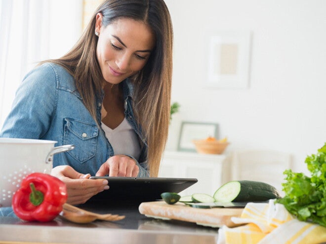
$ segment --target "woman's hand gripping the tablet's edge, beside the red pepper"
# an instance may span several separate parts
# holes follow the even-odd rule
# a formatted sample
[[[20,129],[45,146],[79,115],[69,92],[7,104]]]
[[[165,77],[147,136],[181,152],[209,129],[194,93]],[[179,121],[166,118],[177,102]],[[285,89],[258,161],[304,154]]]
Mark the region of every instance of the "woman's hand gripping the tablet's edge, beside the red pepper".
[[[90,174],[78,173],[67,165],[54,167],[51,175],[66,183],[69,204],[83,204],[97,193],[109,189],[106,179],[88,179]]]

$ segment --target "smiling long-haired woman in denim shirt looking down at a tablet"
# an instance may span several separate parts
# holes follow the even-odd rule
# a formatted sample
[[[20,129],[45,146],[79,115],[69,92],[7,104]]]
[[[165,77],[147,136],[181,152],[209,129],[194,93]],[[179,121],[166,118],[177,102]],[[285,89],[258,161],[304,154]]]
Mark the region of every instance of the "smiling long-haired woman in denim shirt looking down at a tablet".
[[[68,203],[108,189],[90,175],[157,176],[167,139],[172,25],[163,0],[106,0],[76,45],[28,73],[0,137],[49,139]]]

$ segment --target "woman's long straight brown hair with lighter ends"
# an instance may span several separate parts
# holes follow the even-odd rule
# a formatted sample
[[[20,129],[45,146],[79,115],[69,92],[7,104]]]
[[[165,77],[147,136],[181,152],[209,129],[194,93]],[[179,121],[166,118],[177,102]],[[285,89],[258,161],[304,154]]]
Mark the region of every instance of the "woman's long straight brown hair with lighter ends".
[[[82,101],[95,121],[95,99],[103,85],[96,58],[98,37],[94,31],[97,13],[103,15],[103,27],[118,18],[131,18],[147,23],[155,34],[154,51],[144,68],[130,79],[134,84],[135,118],[148,142],[150,175],[157,176],[170,116],[173,31],[169,11],[163,0],[106,0],[97,8],[75,46],[63,57],[51,60],[74,76]]]

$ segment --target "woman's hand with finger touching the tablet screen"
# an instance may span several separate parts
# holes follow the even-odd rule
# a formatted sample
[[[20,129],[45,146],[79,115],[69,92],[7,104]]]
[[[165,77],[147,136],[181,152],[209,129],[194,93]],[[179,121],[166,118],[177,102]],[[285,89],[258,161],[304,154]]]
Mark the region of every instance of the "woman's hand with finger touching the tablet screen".
[[[110,157],[96,173],[96,176],[126,176],[136,177],[138,175],[139,168],[132,158],[126,155],[115,155]]]

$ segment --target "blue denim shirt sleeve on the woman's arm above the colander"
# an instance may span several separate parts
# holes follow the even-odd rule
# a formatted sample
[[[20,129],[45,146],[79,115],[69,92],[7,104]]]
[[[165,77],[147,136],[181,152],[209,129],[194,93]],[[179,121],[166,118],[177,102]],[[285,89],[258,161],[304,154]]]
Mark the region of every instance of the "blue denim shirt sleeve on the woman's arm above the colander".
[[[0,137],[42,139],[56,107],[56,74],[50,65],[42,65],[23,79]]]

